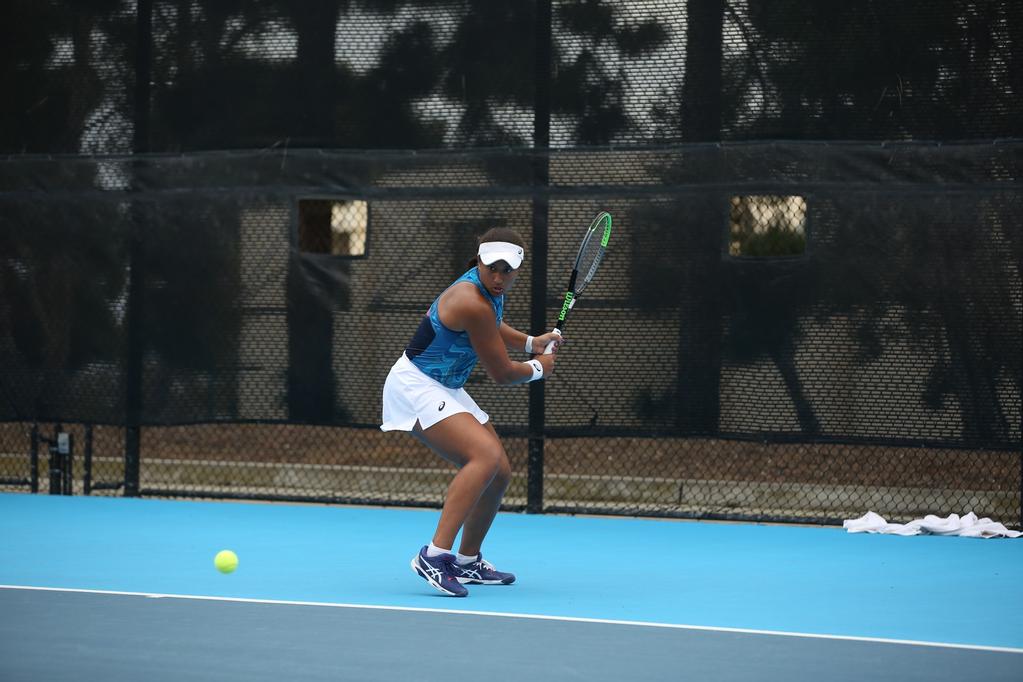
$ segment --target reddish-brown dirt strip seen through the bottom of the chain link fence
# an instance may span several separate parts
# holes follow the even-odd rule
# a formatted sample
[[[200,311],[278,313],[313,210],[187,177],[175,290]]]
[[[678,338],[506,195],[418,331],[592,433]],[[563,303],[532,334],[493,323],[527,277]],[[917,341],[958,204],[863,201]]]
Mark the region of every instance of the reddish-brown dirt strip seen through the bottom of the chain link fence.
[[[81,458],[82,425],[65,427]],[[51,436],[52,424],[40,433]],[[31,424],[0,424],[0,452],[30,449]],[[504,439],[517,471],[526,439]],[[45,456],[46,445],[41,446]],[[124,429],[96,426],[95,456],[124,453]],[[436,468],[439,458],[404,434],[294,424],[203,424],[142,429],[141,457],[218,462]],[[763,444],[716,439],[571,438],[544,444],[544,471],[565,475],[712,479],[733,482],[902,486],[1019,491],[1020,453],[880,445]]]

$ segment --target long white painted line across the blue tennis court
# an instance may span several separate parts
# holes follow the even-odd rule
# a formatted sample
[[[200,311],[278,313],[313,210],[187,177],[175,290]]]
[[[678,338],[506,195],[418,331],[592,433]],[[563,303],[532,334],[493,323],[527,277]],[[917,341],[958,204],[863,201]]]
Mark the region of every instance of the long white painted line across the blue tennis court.
[[[323,606],[330,608],[366,608],[389,611],[414,611],[420,613],[457,613],[460,616],[488,616],[491,618],[516,618],[533,621],[565,621],[569,623],[594,623],[599,625],[631,625],[643,628],[669,628],[674,630],[698,630],[704,632],[728,632],[744,635],[771,635],[775,637],[803,637],[806,639],[835,639],[850,642],[871,642],[875,644],[904,644],[909,646],[933,646],[949,649],[971,649],[977,651],[997,651],[1000,653],[1023,653],[1023,648],[1009,646],[984,646],[982,644],[955,644],[949,642],[928,642],[916,639],[886,639],[884,637],[855,637],[852,635],[822,635],[807,632],[785,632],[781,630],[752,630],[748,628],[721,628],[708,625],[681,625],[675,623],[648,623],[644,621],[615,621],[597,618],[576,618],[572,616],[540,616],[536,613],[504,613],[501,611],[474,611],[461,608],[426,608],[421,606],[384,606],[377,604],[345,604],[331,601],[293,601],[288,599],[251,599],[247,597],[215,597],[197,594],[159,594],[152,592],[121,592],[117,590],[84,590],[71,587],[36,587],[32,585],[0,585],[0,590],[32,590],[38,592],[76,592],[82,594],[108,594],[126,597],[146,597],[149,599],[191,599],[196,601],[233,601],[247,604],[274,604],[282,606]]]

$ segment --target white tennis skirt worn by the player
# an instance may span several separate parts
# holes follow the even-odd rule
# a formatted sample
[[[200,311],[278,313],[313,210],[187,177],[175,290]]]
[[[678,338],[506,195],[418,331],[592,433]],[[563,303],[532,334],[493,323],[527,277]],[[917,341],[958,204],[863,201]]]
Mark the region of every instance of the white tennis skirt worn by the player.
[[[472,414],[481,424],[490,420],[464,389],[449,389],[427,376],[402,353],[384,382],[381,430],[410,431],[416,421],[426,429],[459,412]]]

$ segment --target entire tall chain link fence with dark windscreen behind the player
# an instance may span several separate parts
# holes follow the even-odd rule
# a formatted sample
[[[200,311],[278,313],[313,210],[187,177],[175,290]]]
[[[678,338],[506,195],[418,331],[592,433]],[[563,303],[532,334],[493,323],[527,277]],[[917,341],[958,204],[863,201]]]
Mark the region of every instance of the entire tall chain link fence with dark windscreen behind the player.
[[[508,509],[1021,522],[1018,3],[0,27],[3,490],[438,505],[451,471],[376,430],[388,368],[496,225],[509,322],[549,324],[608,210],[544,409],[469,387]]]

